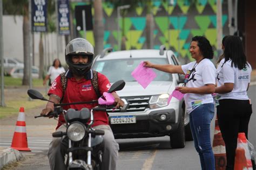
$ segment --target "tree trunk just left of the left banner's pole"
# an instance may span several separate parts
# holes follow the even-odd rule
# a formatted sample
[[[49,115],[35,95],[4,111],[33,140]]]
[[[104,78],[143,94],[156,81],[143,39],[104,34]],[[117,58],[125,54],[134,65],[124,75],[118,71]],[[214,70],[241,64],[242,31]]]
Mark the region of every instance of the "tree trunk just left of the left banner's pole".
[[[22,85],[29,85],[29,57],[30,57],[30,51],[29,51],[29,13],[28,13],[28,7],[24,8],[27,12],[26,15],[23,16],[23,56],[24,56],[24,74],[22,79]]]

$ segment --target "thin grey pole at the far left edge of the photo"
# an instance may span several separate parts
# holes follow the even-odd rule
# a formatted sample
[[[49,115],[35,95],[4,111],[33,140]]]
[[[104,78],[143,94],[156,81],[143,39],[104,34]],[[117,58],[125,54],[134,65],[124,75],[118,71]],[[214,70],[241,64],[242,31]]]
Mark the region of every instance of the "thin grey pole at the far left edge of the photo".
[[[1,106],[4,103],[4,56],[3,56],[3,1],[0,0],[0,55],[1,55]]]

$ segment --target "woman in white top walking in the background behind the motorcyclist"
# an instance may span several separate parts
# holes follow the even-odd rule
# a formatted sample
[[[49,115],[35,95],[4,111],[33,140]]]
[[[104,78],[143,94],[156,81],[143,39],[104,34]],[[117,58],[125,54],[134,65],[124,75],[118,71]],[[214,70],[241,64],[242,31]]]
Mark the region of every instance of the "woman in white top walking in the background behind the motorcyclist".
[[[53,83],[56,77],[59,76],[60,73],[65,72],[65,69],[62,67],[59,59],[55,59],[52,63],[52,66],[49,67],[48,73],[44,78],[43,85],[45,86],[46,81],[49,79],[49,86]]]

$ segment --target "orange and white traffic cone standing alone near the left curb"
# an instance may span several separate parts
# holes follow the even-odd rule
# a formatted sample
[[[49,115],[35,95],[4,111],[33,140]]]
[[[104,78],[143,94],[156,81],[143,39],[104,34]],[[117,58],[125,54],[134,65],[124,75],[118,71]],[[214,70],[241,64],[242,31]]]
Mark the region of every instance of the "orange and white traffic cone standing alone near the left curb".
[[[11,148],[18,151],[31,151],[30,148],[28,148],[28,139],[26,138],[24,107],[19,108],[19,115],[15,127],[14,138],[12,138]]]

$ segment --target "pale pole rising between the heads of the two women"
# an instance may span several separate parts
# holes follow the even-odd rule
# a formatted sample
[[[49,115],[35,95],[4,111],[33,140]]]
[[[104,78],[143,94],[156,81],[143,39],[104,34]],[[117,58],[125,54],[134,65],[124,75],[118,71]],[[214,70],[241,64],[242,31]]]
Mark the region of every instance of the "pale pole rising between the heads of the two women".
[[[222,42],[222,35],[223,35],[223,28],[222,28],[222,3],[221,0],[217,0],[217,52],[218,57],[221,53],[221,42]]]

